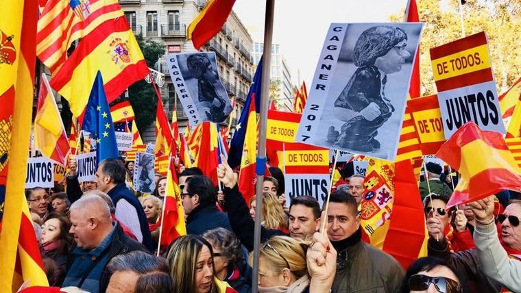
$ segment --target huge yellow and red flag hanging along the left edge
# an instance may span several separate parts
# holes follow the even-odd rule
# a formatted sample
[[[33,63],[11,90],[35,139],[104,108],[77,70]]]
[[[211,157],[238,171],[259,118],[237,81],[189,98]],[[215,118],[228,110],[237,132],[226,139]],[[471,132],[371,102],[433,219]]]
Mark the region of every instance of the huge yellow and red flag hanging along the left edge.
[[[48,286],[25,200],[36,68],[37,1],[0,5],[0,292]]]

